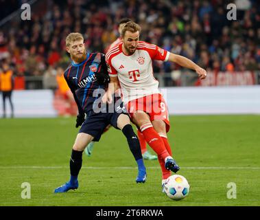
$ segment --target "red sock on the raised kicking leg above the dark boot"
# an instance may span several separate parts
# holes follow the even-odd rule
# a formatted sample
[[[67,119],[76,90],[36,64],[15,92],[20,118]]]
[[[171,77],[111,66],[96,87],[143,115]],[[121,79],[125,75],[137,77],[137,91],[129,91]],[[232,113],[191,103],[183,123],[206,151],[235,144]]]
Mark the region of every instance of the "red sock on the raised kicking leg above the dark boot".
[[[170,156],[165,148],[165,144],[163,143],[162,138],[154,130],[154,127],[151,123],[143,124],[143,126],[140,127],[140,130],[143,133],[147,144],[152,147],[154,152],[157,153],[158,157],[165,159],[166,157]]]

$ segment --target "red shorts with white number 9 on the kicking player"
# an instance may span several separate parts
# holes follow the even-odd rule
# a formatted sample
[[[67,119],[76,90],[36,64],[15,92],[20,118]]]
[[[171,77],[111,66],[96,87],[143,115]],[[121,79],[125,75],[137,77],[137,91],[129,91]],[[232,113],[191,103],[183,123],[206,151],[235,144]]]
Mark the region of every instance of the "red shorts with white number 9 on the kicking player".
[[[132,118],[136,111],[145,111],[149,116],[151,122],[154,120],[163,120],[166,124],[166,132],[169,131],[169,113],[167,104],[161,94],[152,94],[131,100],[126,104],[126,109]]]

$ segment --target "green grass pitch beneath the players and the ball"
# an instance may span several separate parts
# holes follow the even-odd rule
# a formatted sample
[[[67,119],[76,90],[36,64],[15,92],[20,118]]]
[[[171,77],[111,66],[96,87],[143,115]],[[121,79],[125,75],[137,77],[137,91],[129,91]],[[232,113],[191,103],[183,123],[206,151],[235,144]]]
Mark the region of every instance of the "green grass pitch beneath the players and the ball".
[[[172,201],[161,192],[157,161],[145,160],[147,182],[121,131],[110,129],[83,155],[80,187],[54,194],[69,179],[75,118],[0,119],[0,206],[260,206],[260,115],[172,116],[168,133],[178,174],[190,194]],[[152,150],[150,150],[152,151]],[[22,199],[21,184],[31,186]],[[228,199],[229,182],[237,198]]]

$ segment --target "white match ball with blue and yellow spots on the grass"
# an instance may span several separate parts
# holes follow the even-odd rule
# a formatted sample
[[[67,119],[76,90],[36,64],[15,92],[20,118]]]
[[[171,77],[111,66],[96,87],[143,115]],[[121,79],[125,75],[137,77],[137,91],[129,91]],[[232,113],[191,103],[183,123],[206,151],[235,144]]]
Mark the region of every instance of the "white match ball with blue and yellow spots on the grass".
[[[172,175],[165,181],[165,192],[170,199],[184,199],[189,194],[189,183],[181,175]]]

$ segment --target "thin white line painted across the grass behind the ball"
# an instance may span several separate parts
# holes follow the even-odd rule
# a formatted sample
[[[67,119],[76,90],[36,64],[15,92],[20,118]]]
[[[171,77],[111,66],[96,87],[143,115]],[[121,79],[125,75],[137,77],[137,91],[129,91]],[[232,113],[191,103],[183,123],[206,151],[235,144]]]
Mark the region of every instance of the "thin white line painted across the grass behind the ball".
[[[0,166],[0,169],[63,169],[69,168],[69,166]],[[147,169],[158,169],[159,166],[147,166]],[[124,169],[137,169],[136,166],[82,166],[82,169],[115,169],[115,170],[124,170]],[[180,169],[187,170],[259,170],[260,167],[251,167],[251,166],[183,166]]]

